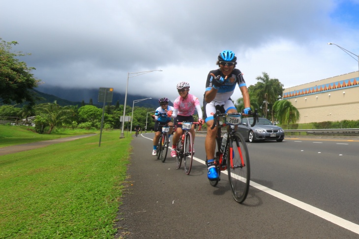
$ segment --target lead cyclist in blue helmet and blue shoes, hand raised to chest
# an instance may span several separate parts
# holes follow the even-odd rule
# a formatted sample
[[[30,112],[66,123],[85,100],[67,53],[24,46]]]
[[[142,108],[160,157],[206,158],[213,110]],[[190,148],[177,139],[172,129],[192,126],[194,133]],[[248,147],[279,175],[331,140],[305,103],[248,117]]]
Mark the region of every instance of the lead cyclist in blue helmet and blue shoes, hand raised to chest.
[[[214,166],[215,137],[217,134],[217,126],[210,129],[213,124],[213,115],[216,107],[219,107],[222,113],[237,113],[237,109],[231,100],[231,96],[236,88],[239,89],[244,101],[244,114],[250,111],[250,101],[248,88],[243,79],[242,73],[235,68],[237,65],[237,57],[232,51],[223,51],[218,55],[216,70],[209,71],[206,82],[206,92],[204,95],[203,109],[204,118],[207,123],[207,135],[205,140],[205,148],[207,154],[208,179],[216,180],[219,178]]]

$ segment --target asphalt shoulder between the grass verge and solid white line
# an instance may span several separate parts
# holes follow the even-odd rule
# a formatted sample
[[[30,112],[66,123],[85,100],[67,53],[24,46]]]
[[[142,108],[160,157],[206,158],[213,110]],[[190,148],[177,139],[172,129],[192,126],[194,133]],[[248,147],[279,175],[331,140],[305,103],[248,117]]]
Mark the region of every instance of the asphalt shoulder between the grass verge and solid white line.
[[[148,138],[152,134],[144,134]],[[196,141],[197,142],[197,141]],[[201,143],[200,143],[201,142]],[[196,143],[201,157],[201,146]],[[122,183],[118,233],[126,239],[356,238],[352,232],[250,187],[240,205],[231,195],[226,175],[209,185],[206,166],[194,161],[191,173],[151,155],[152,141],[139,135]],[[195,155],[196,156],[196,155]],[[255,170],[255,169],[253,169]]]

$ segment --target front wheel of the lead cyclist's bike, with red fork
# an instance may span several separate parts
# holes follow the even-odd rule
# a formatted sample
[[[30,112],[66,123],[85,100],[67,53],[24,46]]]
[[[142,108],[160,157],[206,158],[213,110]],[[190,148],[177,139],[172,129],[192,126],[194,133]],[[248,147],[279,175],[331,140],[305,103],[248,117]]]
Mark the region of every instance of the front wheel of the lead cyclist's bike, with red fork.
[[[238,203],[242,203],[249,190],[250,164],[249,153],[244,138],[235,132],[231,137],[231,145],[227,156],[228,180],[232,196]]]

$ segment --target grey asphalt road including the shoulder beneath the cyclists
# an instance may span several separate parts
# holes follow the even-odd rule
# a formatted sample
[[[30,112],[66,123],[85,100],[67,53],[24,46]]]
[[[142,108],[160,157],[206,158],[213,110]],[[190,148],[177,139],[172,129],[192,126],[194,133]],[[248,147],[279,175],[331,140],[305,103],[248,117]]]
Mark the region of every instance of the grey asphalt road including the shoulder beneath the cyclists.
[[[247,143],[251,187],[238,204],[226,175],[210,186],[197,136],[189,176],[151,156],[153,133],[133,139],[117,237],[359,238],[358,140]]]

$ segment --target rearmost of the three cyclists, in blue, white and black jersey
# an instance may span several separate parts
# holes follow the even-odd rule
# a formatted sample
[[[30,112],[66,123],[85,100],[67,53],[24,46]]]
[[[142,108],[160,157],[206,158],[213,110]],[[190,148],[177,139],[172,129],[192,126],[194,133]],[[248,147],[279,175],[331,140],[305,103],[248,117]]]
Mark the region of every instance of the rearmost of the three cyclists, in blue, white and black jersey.
[[[167,116],[168,111],[173,111],[173,107],[168,105],[168,99],[166,97],[160,98],[158,100],[160,107],[156,109],[156,112],[152,116],[154,123],[154,137],[153,137],[153,151],[152,155],[156,156],[157,153],[157,144],[158,140],[162,133],[162,126],[160,124],[168,123],[169,126],[173,126],[173,122],[171,122],[171,117]],[[173,131],[173,127],[170,127],[170,131],[168,132],[168,137],[171,136]],[[170,138],[168,138],[170,139]]]

